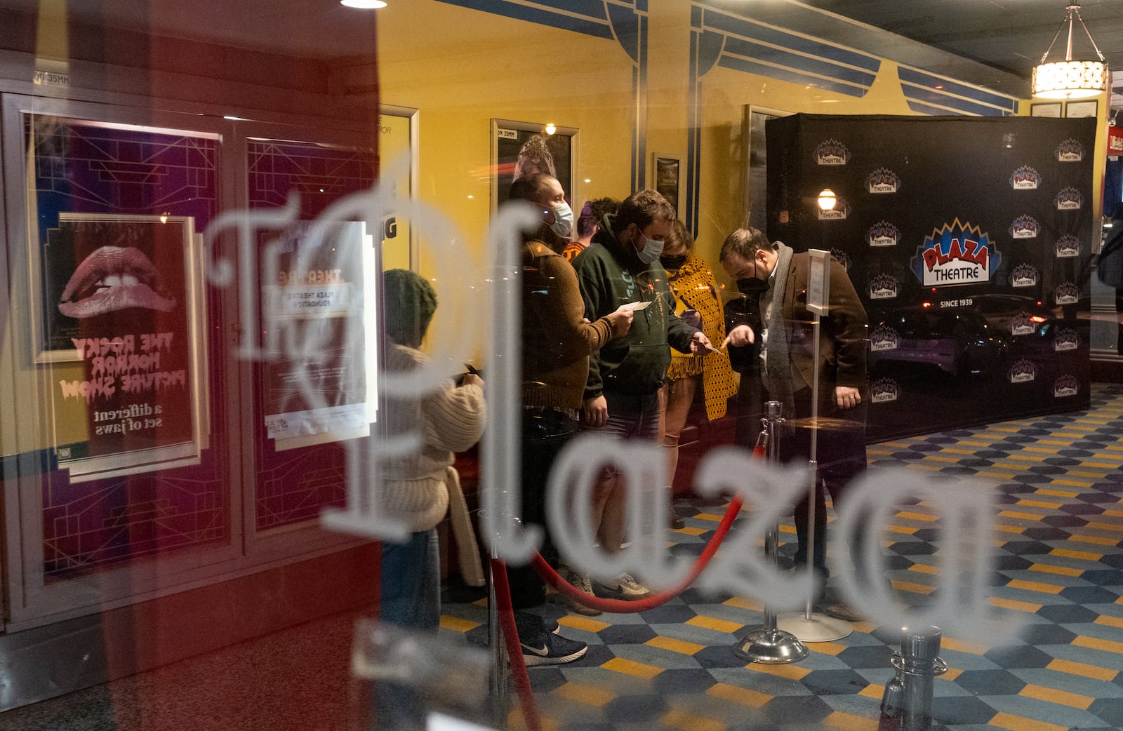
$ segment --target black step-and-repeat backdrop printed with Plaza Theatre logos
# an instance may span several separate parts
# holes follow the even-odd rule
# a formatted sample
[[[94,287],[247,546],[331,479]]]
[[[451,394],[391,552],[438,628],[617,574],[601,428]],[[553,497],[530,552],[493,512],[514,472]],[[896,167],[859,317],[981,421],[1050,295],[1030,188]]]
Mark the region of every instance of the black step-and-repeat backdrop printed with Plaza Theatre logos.
[[[1088,405],[1095,133],[1095,119],[768,121],[768,238],[830,250],[869,316],[870,441]]]

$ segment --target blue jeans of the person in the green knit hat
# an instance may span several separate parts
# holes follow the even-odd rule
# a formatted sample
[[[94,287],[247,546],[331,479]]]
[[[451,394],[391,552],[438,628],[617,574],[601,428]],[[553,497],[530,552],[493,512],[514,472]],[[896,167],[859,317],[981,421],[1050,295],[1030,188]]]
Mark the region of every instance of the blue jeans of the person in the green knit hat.
[[[436,630],[440,623],[440,556],[437,529],[410,533],[404,543],[382,545],[380,619]]]

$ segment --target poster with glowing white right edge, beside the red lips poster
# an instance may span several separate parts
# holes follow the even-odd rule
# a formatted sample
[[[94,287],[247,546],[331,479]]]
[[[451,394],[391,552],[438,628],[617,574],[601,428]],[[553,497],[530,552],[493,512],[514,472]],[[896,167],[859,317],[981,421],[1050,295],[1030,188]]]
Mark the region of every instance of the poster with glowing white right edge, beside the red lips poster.
[[[374,421],[374,249],[362,222],[302,222],[265,244],[264,413],[276,449],[364,437]]]

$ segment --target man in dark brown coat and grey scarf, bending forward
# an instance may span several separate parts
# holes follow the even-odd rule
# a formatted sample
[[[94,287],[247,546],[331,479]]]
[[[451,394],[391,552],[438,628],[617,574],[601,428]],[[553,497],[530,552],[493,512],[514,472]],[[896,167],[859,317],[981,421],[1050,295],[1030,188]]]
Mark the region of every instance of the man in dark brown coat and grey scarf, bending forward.
[[[764,402],[779,401],[784,418],[796,427],[780,432],[779,458],[809,459],[811,429],[806,422],[812,414],[812,385],[816,374],[819,377],[821,421],[816,428],[819,478],[812,566],[825,582],[830,574],[823,487],[837,505],[843,487],[866,469],[866,311],[846,268],[832,258],[830,310],[820,325],[816,363],[813,317],[807,311],[811,256],[795,254],[779,241],[770,244],[754,228],[730,234],[719,256],[722,268],[745,295],[742,312],[734,313],[727,323],[725,345],[734,346],[731,354],[738,349],[759,354],[756,363],[745,364],[742,359],[738,400],[741,413],[750,414],[743,424],[749,431],[743,435],[749,437],[748,444],[754,444],[760,429]],[[795,509],[800,541],[795,561],[803,566],[807,563],[807,512],[804,499]],[[837,613],[843,614],[846,607],[840,610]]]

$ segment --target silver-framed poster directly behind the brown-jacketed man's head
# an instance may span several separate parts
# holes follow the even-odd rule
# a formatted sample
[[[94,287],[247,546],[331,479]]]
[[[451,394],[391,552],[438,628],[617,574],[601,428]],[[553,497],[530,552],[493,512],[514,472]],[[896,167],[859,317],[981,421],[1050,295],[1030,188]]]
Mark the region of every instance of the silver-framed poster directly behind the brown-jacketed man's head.
[[[506,202],[511,183],[549,173],[573,205],[577,130],[536,122],[492,119],[492,210]]]

